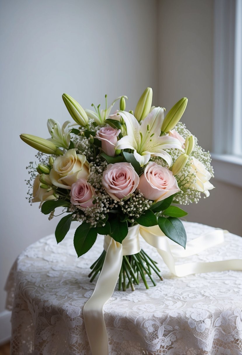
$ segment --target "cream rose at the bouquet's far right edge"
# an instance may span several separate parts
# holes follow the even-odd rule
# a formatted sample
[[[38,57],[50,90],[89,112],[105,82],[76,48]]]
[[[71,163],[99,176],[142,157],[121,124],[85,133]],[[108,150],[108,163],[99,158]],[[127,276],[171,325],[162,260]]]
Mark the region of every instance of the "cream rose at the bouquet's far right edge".
[[[197,191],[204,192],[206,197],[208,197],[210,195],[208,190],[214,189],[214,186],[209,182],[212,175],[204,164],[194,157],[191,160],[191,171],[196,174],[196,181],[191,186]]]

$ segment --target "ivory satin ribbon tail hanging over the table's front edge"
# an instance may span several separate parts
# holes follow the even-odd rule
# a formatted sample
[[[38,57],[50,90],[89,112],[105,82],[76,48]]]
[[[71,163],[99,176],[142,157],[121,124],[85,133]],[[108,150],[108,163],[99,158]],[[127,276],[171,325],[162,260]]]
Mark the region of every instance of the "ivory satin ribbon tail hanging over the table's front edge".
[[[109,354],[103,306],[114,292],[122,260],[122,244],[111,239],[93,294],[83,308],[84,322],[92,355]]]

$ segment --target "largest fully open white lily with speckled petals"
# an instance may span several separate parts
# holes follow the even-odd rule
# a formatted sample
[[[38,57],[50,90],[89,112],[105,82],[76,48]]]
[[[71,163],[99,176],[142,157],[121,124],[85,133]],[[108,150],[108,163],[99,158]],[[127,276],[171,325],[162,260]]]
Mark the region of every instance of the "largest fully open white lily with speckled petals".
[[[164,109],[154,108],[139,125],[130,113],[120,111],[119,115],[126,124],[127,136],[117,141],[115,149],[132,149],[134,157],[141,166],[148,163],[150,157],[161,157],[169,166],[172,158],[164,149],[176,148],[184,151],[178,139],[170,136],[160,137],[161,125],[164,121]]]

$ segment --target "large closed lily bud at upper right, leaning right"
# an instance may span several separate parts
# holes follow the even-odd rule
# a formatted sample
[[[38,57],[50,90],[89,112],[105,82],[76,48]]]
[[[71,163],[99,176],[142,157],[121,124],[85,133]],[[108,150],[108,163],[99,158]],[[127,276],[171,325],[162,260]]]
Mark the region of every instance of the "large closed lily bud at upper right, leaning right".
[[[187,107],[187,101],[188,101],[187,98],[183,97],[167,113],[167,115],[165,116],[165,119],[163,121],[163,124],[161,126],[162,132],[166,133],[166,132],[169,132],[170,130],[174,129],[174,127],[180,121],[181,116],[183,115],[183,113]]]

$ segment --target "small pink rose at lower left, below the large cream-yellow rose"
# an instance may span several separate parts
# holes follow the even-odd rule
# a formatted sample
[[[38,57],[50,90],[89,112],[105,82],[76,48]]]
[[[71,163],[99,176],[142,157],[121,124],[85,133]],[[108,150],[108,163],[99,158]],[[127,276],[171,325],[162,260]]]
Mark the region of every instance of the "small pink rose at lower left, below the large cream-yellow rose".
[[[87,207],[94,206],[94,195],[96,195],[94,187],[92,187],[85,179],[79,179],[71,185],[71,203],[80,206],[83,210]]]

